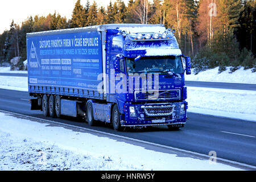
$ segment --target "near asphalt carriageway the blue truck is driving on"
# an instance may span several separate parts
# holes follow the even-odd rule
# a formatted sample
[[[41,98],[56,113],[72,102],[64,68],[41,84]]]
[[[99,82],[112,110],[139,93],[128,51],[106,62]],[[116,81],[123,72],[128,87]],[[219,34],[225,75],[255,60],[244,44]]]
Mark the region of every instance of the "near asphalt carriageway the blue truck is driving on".
[[[27,92],[0,89],[1,110],[53,120],[43,117],[42,111],[31,111],[28,99]],[[162,126],[148,130],[126,129],[117,132],[104,123],[90,127],[81,119],[72,117],[55,118],[54,121],[205,155],[208,155],[209,151],[216,151],[217,158],[256,166],[256,122],[194,113],[188,113],[188,118],[185,127],[178,131],[169,131],[166,126]]]

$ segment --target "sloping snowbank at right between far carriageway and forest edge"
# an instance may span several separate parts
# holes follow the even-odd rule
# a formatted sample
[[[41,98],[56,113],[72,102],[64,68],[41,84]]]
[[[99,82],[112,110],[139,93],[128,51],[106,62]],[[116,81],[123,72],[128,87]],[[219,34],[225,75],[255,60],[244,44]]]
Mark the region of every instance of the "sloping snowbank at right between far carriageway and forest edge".
[[[244,70],[243,67],[233,73],[229,73],[229,68],[226,71],[218,74],[218,67],[200,72],[197,75],[185,75],[187,81],[212,81],[212,82],[233,82],[241,84],[256,84],[256,72],[252,73],[251,69]]]

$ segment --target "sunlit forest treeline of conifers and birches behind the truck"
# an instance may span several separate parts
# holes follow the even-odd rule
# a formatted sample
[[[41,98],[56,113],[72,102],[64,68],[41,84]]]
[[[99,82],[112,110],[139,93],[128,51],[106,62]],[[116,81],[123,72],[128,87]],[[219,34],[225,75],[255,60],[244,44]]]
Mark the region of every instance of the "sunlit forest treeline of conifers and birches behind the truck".
[[[164,24],[175,29],[184,55],[192,57],[195,72],[219,67],[256,71],[256,2],[254,0],[122,0],[99,7],[94,1],[75,3],[72,18],[60,14],[29,16],[21,24],[10,23],[0,35],[1,61],[27,59],[26,34],[108,23]]]

